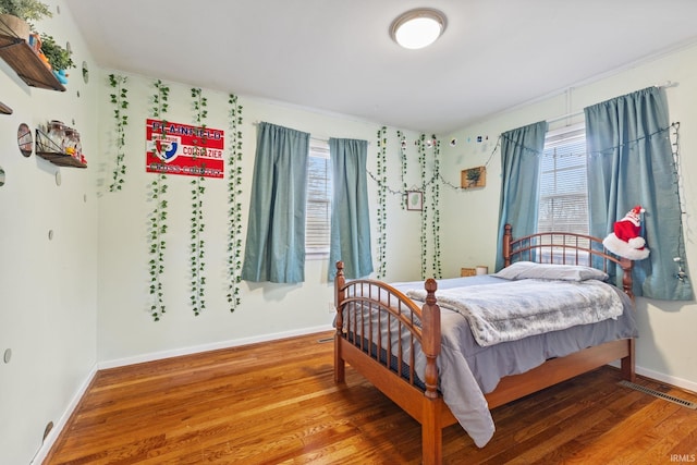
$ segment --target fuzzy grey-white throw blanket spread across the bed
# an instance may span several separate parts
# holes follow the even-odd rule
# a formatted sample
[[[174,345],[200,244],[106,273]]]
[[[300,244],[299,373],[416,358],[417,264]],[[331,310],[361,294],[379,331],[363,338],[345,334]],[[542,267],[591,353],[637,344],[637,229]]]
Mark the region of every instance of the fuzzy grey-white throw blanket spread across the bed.
[[[415,301],[426,299],[426,291],[409,290],[406,295]],[[597,280],[526,279],[437,291],[436,297],[439,306],[467,319],[481,346],[622,315],[616,291]]]

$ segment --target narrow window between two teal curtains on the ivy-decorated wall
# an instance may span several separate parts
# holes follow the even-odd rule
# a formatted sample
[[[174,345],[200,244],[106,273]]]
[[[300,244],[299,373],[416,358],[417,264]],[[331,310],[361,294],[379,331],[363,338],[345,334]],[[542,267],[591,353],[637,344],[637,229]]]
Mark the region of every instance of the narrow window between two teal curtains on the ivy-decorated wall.
[[[305,253],[308,255],[329,255],[331,187],[329,144],[310,140],[307,163],[307,212],[305,216]]]

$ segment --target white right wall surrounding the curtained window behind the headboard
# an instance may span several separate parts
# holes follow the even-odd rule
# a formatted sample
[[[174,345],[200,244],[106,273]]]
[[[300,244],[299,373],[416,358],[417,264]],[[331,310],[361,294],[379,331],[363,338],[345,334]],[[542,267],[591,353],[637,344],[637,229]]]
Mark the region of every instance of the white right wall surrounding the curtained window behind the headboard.
[[[636,64],[602,79],[586,83],[555,96],[498,114],[479,124],[457,131],[443,139],[457,138],[455,147],[445,146],[443,163],[453,182],[461,170],[485,164],[502,132],[541,120],[582,112],[584,107],[668,82],[677,86],[667,89],[671,122],[680,122],[683,218],[687,253],[687,272],[697,284],[697,46],[686,47],[669,56]],[[582,117],[583,118],[583,117]],[[562,120],[550,129],[577,122]],[[489,137],[476,143],[478,135]],[[467,143],[467,139],[470,142]],[[493,267],[499,194],[501,189],[500,151],[496,150],[487,171],[487,186],[462,193],[450,191],[443,210],[443,247],[445,268],[455,273],[462,266],[477,264]],[[637,371],[655,379],[697,391],[697,305],[692,302],[668,302],[637,298],[639,339]]]

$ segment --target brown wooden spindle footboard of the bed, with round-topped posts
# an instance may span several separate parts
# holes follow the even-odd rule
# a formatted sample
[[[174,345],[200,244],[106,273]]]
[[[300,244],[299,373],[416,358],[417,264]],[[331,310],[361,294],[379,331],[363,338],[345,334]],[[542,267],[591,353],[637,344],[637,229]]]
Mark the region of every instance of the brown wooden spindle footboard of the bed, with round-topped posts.
[[[442,428],[456,423],[438,391],[441,350],[440,308],[435,280],[425,283],[418,307],[396,289],[376,280],[346,282],[337,264],[334,380],[344,382],[348,363],[377,389],[421,424],[424,464],[442,461]],[[425,369],[417,374],[421,353]]]

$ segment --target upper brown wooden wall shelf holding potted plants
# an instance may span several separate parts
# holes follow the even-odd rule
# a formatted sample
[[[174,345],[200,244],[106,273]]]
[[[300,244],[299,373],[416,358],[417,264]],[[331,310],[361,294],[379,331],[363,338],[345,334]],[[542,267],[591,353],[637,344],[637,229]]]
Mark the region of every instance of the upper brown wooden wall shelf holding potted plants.
[[[48,69],[25,40],[0,33],[0,58],[28,86],[65,91],[65,87],[53,75],[53,72]]]

